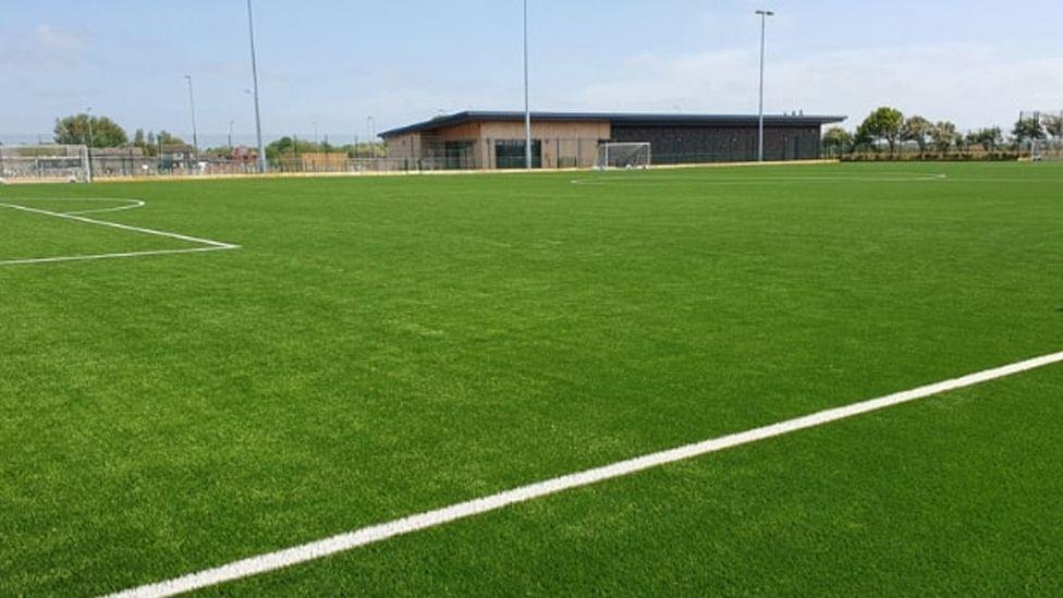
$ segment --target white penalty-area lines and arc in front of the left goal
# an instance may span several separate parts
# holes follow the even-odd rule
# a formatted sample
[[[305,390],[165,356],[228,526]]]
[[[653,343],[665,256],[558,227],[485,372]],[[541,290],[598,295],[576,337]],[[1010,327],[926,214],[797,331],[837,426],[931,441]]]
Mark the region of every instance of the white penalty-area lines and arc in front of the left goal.
[[[89,261],[97,259],[117,259],[126,257],[147,257],[147,256],[159,256],[159,255],[176,255],[176,254],[201,254],[207,252],[225,252],[231,249],[239,249],[240,245],[233,245],[231,243],[222,243],[220,241],[211,241],[209,239],[200,239],[198,236],[190,236],[186,234],[172,233],[167,231],[158,231],[155,229],[145,229],[143,227],[131,227],[129,224],[120,224],[118,222],[108,222],[106,220],[96,220],[94,218],[86,218],[85,213],[102,213],[112,211],[130,210],[143,207],[145,205],[140,199],[80,199],[80,198],[35,198],[35,199],[15,199],[15,202],[26,202],[26,200],[49,200],[49,202],[125,202],[130,205],[120,206],[117,208],[105,208],[99,210],[84,210],[77,212],[58,212],[50,210],[42,210],[38,208],[29,208],[26,206],[21,206],[17,204],[4,204],[0,203],[0,208],[9,208],[13,210],[25,211],[29,213],[37,213],[41,216],[49,216],[52,218],[62,218],[64,220],[73,220],[75,222],[84,222],[86,224],[94,224],[97,227],[108,227],[112,229],[119,229],[122,231],[149,234],[154,236],[163,236],[167,239],[174,239],[178,241],[184,241],[187,243],[196,243],[199,245],[206,245],[206,247],[190,247],[187,249],[152,249],[144,252],[124,252],[124,253],[110,253],[110,254],[89,254],[89,255],[75,255],[75,256],[57,256],[57,257],[37,257],[28,259],[8,259],[0,261],[0,266],[23,266],[29,264],[56,264],[61,261]]]

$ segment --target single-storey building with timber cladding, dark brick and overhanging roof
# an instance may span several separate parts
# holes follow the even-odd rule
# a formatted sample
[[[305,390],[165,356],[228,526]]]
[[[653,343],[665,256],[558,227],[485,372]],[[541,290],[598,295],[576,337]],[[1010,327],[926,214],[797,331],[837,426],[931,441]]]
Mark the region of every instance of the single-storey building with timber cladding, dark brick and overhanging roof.
[[[824,124],[844,117],[765,115],[765,159],[815,160]],[[534,112],[535,168],[589,168],[602,143],[648,143],[652,163],[744,162],[757,157],[757,115]],[[392,168],[524,168],[523,112],[460,112],[381,134]]]

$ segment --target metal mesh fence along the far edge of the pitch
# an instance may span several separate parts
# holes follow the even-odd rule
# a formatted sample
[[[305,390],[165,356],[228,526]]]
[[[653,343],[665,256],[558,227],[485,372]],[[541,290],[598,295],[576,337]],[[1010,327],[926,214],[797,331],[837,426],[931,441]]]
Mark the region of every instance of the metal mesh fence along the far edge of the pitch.
[[[599,146],[604,139],[553,138],[535,139],[533,168],[589,169],[596,166]],[[258,173],[257,156],[253,150],[239,149],[232,157],[216,151],[197,152],[190,146],[174,146],[155,156],[135,147],[93,149],[84,146],[0,146],[0,178],[8,181],[70,181],[131,179],[131,178],[193,178],[235,176]],[[747,151],[725,146],[684,147],[685,151],[668,151],[652,146],[652,166],[744,162]],[[248,152],[252,151],[252,152]],[[291,175],[429,173],[469,170],[523,170],[525,151],[523,139],[461,139],[423,137],[415,147],[393,144],[387,157],[355,155],[350,151],[286,152],[268,161],[269,172]],[[91,159],[88,159],[88,155]],[[838,151],[824,144],[821,157],[844,160],[1016,160],[1063,159],[1063,139],[1029,144],[1005,144],[992,151],[980,146],[954,146],[948,151],[920,150],[914,144],[902,144],[894,151],[887,147]],[[91,164],[90,170],[88,164]]]

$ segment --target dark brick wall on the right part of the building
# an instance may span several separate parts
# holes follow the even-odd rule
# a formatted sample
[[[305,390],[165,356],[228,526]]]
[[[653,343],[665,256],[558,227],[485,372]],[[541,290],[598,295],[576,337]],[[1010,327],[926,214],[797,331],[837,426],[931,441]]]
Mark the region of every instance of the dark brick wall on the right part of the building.
[[[614,142],[649,142],[653,163],[745,162],[757,159],[756,127],[613,125]],[[765,160],[819,158],[820,127],[765,127]]]

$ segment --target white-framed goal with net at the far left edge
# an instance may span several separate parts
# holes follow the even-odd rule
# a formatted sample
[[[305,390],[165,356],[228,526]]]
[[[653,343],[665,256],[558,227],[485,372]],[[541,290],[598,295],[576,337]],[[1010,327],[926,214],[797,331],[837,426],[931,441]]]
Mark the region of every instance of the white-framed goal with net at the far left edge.
[[[0,181],[91,182],[83,145],[0,145]]]

